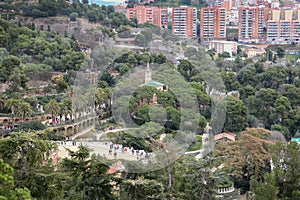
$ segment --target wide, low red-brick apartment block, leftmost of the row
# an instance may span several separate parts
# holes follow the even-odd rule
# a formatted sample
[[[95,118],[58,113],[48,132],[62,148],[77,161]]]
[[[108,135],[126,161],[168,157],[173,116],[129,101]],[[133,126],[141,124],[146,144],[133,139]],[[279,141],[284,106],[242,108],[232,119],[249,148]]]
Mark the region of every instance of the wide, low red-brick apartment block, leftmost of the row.
[[[135,6],[127,8],[126,17],[129,20],[135,17],[138,24],[149,23],[162,28],[168,27],[168,10],[166,8]]]

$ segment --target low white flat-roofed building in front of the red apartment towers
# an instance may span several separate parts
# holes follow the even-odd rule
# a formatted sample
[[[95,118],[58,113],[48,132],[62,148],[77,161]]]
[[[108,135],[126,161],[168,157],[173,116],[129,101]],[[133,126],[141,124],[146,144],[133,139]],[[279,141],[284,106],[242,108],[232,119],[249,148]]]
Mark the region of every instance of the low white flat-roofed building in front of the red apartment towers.
[[[215,49],[217,53],[221,54],[228,52],[232,56],[232,53],[236,54],[237,52],[237,42],[214,40],[208,43],[208,49]]]

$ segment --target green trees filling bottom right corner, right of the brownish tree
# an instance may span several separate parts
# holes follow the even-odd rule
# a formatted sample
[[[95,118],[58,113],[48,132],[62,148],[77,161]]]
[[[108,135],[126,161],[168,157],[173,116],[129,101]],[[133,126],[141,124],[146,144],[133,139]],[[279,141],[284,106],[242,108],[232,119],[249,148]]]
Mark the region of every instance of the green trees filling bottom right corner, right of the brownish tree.
[[[265,174],[258,182],[251,180],[255,199],[299,199],[300,165],[299,144],[296,142],[277,143],[271,148],[271,173]]]

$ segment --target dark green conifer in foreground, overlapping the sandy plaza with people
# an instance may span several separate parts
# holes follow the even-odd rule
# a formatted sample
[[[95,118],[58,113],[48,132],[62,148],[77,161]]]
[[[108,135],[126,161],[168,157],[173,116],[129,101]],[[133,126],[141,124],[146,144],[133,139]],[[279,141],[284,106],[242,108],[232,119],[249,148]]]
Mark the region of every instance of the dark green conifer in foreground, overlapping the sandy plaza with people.
[[[117,179],[107,174],[108,166],[95,155],[90,157],[89,152],[79,146],[76,152],[69,150],[70,158],[62,160],[62,170],[69,176],[65,199],[115,199],[112,181]]]

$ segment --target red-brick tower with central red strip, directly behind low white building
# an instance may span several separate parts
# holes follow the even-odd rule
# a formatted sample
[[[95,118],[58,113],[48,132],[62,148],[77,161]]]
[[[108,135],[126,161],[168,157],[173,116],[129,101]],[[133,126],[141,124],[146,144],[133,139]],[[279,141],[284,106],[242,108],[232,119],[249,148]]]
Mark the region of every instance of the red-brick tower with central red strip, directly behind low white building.
[[[200,38],[204,41],[226,38],[226,12],[211,6],[200,10]]]

